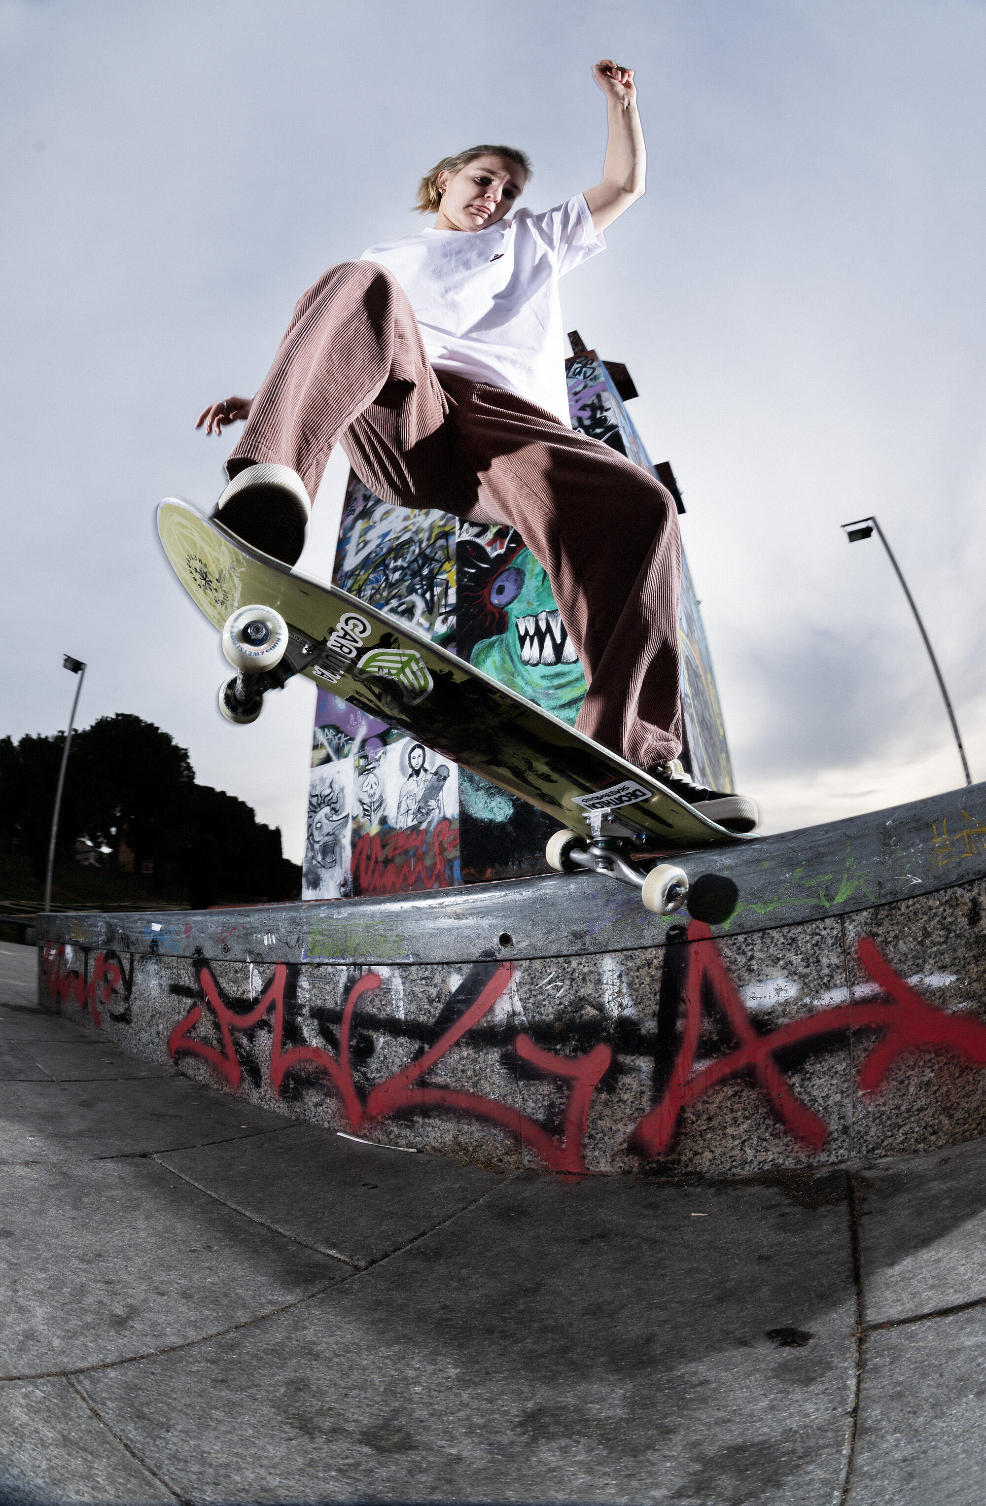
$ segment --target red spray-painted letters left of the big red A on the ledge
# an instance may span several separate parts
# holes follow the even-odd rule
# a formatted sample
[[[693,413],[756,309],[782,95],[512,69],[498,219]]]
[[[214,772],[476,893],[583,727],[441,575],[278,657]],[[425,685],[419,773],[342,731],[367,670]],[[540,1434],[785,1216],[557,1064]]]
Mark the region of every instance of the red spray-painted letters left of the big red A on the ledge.
[[[453,1087],[431,1087],[420,1084],[420,1078],[440,1062],[473,1026],[495,1005],[507,988],[513,968],[509,962],[501,962],[485,988],[468,1009],[440,1036],[428,1051],[415,1062],[393,1072],[382,1083],[370,1089],[366,1099],[360,1096],[349,1065],[349,1038],[352,1030],[352,1015],[363,994],[379,988],[381,979],[376,973],[366,973],[349,991],[342,1015],[339,1032],[339,1057],[322,1047],[291,1047],[283,1048],[285,1027],[285,982],[288,968],[280,962],[274,968],[274,977],[263,991],[260,1000],[247,1014],[233,1014],[223,1001],[208,967],[202,968],[202,991],[208,1000],[220,1027],[221,1048],[196,1041],[191,1032],[202,1020],[202,1006],[193,1005],[184,1020],[175,1026],[169,1036],[167,1048],[172,1059],[182,1053],[199,1056],[208,1062],[229,1086],[239,1087],[242,1069],[233,1044],[235,1030],[248,1030],[257,1024],[263,1015],[274,1011],[274,1041],[271,1047],[271,1086],[280,1096],[285,1077],[300,1066],[319,1068],[339,1093],[343,1111],[352,1130],[360,1130],[378,1119],[387,1119],[397,1113],[420,1113],[421,1108],[446,1108],[452,1113],[468,1114],[476,1119],[486,1119],[500,1125],[522,1145],[530,1146],[542,1161],[555,1172],[584,1172],[584,1139],[592,1095],[613,1060],[613,1048],[599,1044],[584,1057],[560,1057],[551,1051],[543,1051],[527,1035],[519,1035],[515,1050],[522,1060],[548,1077],[568,1081],[569,1092],[561,1114],[560,1136],[551,1134],[543,1125],[522,1114],[509,1104],[495,1098],[482,1098],[479,1093],[467,1093]],[[420,1084],[420,1086],[418,1086]]]

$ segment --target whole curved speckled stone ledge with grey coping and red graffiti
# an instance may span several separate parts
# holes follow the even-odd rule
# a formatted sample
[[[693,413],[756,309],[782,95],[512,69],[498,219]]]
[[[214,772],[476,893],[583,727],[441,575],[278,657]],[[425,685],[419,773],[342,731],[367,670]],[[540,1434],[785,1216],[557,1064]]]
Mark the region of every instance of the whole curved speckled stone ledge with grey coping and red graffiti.
[[[981,794],[701,854],[668,920],[583,875],[50,916],[39,998],[256,1107],[497,1167],[951,1145],[986,1134]]]

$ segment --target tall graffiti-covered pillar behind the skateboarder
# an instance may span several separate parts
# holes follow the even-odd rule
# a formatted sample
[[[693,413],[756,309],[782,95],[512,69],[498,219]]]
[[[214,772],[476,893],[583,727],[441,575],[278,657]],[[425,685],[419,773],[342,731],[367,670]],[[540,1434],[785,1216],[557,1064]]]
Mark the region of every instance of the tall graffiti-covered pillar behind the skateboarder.
[[[626,411],[637,389],[625,366],[569,336],[572,428],[676,483],[652,465]],[[680,506],[680,511],[683,508]],[[500,684],[575,724],[586,696],[546,572],[506,526],[477,527],[444,512],[396,508],[351,473],[333,581],[441,643]],[[697,780],[733,788],[712,660],[682,550],[683,761]],[[319,691],[304,898],[403,893],[546,872],[554,822],[459,770],[402,732]]]

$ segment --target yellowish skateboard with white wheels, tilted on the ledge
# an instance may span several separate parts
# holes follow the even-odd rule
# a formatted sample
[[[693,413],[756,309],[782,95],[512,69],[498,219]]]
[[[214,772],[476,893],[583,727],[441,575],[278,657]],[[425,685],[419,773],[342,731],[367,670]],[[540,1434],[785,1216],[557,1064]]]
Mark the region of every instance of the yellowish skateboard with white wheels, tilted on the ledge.
[[[467,660],[357,596],[289,571],[188,503],[166,498],[158,533],[236,670],[218,691],[229,721],[256,721],[268,691],[306,675],[546,812],[561,827],[545,851],[549,867],[632,884],[655,914],[671,914],[688,898],[685,870],[653,866],[655,858],[748,840]]]

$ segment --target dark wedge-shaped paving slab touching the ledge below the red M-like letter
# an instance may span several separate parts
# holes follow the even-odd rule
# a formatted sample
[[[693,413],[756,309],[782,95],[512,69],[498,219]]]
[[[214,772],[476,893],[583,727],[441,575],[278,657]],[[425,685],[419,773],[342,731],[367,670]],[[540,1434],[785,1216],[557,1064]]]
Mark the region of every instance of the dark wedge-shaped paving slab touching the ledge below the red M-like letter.
[[[233,1208],[366,1267],[500,1187],[504,1173],[298,1125],[158,1157]]]

